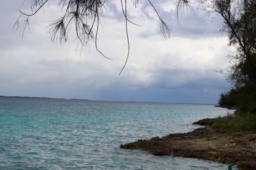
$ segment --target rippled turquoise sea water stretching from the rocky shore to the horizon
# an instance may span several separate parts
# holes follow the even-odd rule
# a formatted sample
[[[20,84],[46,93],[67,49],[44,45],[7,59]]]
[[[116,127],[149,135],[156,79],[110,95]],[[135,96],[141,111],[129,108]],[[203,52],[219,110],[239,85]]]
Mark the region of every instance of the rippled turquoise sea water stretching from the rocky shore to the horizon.
[[[227,169],[226,164],[159,157],[119,146],[188,132],[212,105],[0,97],[0,169]]]

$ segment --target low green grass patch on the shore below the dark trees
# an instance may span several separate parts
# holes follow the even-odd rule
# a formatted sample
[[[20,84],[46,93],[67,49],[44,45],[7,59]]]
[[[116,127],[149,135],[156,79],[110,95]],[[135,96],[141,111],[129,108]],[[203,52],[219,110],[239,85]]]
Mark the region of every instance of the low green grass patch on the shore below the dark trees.
[[[216,118],[212,129],[220,133],[256,132],[256,114],[227,115]]]

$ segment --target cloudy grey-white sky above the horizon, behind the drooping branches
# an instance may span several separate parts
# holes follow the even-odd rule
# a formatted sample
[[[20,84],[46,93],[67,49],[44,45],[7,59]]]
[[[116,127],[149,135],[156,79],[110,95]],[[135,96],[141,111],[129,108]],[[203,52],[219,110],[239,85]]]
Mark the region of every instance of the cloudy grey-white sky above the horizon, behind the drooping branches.
[[[61,16],[56,0],[30,20],[22,38],[13,31],[18,9],[29,13],[30,1],[3,1],[0,6],[0,96],[77,98],[111,101],[150,101],[216,104],[231,88],[218,73],[228,66],[227,35],[222,20],[208,15],[196,1],[177,22],[176,0],[152,1],[172,31],[161,37],[159,20],[147,1],[136,8],[127,1],[127,13],[137,25],[128,25],[131,51],[127,55],[125,20],[120,1],[107,1],[98,46],[77,45],[70,31],[68,43],[51,43],[47,25]]]

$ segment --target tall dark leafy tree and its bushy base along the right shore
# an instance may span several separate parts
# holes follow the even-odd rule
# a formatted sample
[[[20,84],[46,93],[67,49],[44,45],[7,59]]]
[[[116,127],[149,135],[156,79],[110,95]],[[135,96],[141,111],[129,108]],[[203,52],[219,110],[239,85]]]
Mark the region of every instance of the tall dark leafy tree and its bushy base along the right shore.
[[[223,31],[228,33],[229,45],[237,48],[229,55],[232,65],[227,73],[236,95],[234,90],[221,94],[220,104],[233,98],[232,104],[243,111],[256,112],[256,1],[215,0],[212,4],[224,20]]]

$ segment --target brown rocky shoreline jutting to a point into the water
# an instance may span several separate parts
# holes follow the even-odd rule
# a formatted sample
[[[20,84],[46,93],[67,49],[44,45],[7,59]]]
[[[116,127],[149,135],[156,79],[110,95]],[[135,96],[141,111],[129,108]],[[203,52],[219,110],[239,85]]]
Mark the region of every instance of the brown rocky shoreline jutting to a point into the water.
[[[153,155],[170,155],[236,164],[241,169],[256,169],[256,134],[218,134],[208,125],[215,119],[194,124],[207,125],[192,132],[169,134],[120,145],[125,149],[145,150]]]

